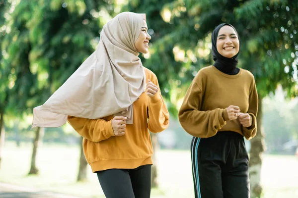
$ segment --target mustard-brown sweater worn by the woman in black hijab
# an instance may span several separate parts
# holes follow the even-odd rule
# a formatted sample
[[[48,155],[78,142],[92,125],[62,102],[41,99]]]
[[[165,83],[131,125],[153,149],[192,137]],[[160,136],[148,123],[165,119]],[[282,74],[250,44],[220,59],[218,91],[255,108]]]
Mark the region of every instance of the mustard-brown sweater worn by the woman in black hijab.
[[[252,118],[250,127],[228,120],[226,108],[240,107]],[[202,68],[193,79],[179,110],[179,121],[192,136],[209,138],[219,131],[234,131],[247,140],[256,135],[258,94],[253,75],[244,69],[227,75],[213,65]]]

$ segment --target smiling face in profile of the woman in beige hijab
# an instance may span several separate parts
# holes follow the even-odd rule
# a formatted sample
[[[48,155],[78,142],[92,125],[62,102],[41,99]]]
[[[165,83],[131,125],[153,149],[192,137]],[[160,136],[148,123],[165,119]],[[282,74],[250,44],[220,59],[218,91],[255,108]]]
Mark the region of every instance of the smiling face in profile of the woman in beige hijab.
[[[149,40],[151,39],[150,35],[147,32],[148,27],[145,20],[143,20],[143,25],[141,33],[135,43],[136,49],[141,53],[148,53]]]

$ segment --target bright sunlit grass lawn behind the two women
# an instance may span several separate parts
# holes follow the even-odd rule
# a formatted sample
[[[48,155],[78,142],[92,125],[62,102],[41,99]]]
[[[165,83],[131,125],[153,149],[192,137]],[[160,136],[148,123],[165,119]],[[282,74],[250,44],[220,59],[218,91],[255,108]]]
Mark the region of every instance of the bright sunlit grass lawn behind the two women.
[[[78,146],[42,145],[38,150],[38,176],[27,176],[31,144],[16,148],[6,143],[2,151],[0,182],[65,193],[85,198],[104,198],[96,174],[88,167],[88,182],[76,183]],[[151,198],[194,198],[189,151],[157,152],[159,189]],[[298,159],[295,156],[264,155],[261,181],[264,198],[298,198]]]

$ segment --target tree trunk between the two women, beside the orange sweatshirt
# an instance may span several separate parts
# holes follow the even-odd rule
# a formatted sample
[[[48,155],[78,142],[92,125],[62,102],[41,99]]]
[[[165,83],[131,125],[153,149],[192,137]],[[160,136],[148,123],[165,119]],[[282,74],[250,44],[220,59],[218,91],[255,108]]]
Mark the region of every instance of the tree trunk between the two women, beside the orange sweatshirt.
[[[159,144],[157,139],[156,133],[151,133],[151,140],[152,140],[152,146],[153,146],[153,165],[151,167],[151,188],[157,188],[158,187],[158,181],[157,181],[157,160],[156,160],[156,153],[159,150]]]

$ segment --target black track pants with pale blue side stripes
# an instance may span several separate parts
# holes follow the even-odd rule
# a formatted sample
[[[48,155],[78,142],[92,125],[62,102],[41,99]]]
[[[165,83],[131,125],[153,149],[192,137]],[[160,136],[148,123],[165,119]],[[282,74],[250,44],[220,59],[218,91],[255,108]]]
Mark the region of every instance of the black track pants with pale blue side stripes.
[[[249,198],[248,155],[243,136],[221,131],[191,144],[195,198]]]

